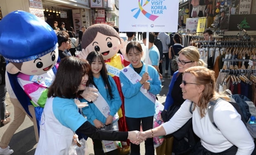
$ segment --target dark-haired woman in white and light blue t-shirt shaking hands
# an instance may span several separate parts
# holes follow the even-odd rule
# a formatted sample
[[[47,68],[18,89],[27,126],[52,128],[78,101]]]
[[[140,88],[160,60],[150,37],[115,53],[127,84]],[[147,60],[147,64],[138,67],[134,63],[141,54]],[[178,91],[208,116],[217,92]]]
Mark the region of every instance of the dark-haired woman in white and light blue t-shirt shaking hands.
[[[112,141],[142,141],[139,132],[100,131],[78,113],[74,99],[83,92],[88,81],[90,65],[74,56],[59,63],[55,81],[49,87],[47,101],[40,121],[40,139],[35,155],[66,155],[73,133],[79,132],[92,139]]]

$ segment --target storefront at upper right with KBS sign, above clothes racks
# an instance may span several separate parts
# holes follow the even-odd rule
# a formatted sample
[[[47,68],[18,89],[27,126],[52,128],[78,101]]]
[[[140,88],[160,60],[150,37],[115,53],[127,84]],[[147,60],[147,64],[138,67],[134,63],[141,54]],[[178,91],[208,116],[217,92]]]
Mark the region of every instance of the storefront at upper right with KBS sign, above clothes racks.
[[[256,0],[189,0],[179,6],[179,23],[186,27],[183,32],[198,32],[197,28],[191,28],[191,25],[201,19],[205,19],[202,30],[212,28],[230,34],[227,31],[240,31],[239,28],[234,28],[240,24],[245,30],[255,31],[253,28],[243,27],[245,21],[253,25],[250,19],[253,16],[251,14],[255,13]],[[241,16],[245,21],[240,20]],[[239,20],[236,20],[236,17],[239,17]]]

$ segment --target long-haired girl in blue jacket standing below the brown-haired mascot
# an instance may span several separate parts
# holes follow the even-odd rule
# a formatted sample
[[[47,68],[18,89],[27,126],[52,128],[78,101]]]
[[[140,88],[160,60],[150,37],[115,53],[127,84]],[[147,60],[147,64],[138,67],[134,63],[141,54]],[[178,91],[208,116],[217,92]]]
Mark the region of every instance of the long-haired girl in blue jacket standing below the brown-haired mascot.
[[[96,87],[103,99],[98,98],[97,100],[99,101],[96,100],[94,103],[89,103],[88,107],[83,108],[83,114],[91,124],[100,129],[118,120],[118,117],[115,116],[118,116],[116,113],[121,106],[121,98],[116,83],[107,73],[102,55],[99,52],[90,52],[86,59],[91,66],[88,80],[89,87],[92,85]],[[102,104],[103,101],[100,101],[100,99],[104,100],[107,104],[105,106],[97,105],[97,103]],[[98,139],[92,139],[92,141],[95,155],[104,155],[101,141]],[[107,154],[113,155],[118,153],[117,151],[113,150]]]

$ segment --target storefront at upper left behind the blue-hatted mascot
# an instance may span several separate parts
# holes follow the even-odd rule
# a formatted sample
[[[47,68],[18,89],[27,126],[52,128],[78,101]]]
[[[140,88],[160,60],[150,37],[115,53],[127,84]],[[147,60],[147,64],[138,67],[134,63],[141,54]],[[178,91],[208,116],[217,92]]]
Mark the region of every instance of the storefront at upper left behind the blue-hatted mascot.
[[[89,0],[1,0],[2,16],[15,10],[23,10],[35,14],[50,26],[54,21],[65,23],[66,30],[73,27],[79,31],[82,26],[92,24]]]

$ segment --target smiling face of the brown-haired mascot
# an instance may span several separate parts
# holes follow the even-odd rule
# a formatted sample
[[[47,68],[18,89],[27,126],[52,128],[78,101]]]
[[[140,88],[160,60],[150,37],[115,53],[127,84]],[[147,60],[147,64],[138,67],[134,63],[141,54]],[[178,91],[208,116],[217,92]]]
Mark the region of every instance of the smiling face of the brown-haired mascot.
[[[100,52],[103,59],[110,59],[119,51],[120,40],[116,37],[97,33],[95,39],[88,45],[89,51]]]

